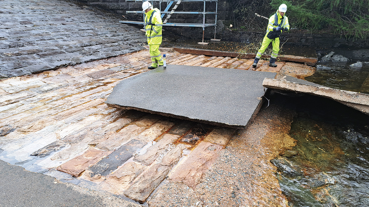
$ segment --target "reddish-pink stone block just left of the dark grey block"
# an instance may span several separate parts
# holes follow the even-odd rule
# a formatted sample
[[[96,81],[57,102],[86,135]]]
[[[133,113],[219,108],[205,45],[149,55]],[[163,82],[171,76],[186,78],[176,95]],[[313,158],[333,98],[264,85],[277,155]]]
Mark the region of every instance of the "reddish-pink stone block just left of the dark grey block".
[[[87,150],[82,155],[79,155],[68,162],[56,168],[58,171],[69,173],[72,176],[78,177],[89,166],[95,164],[100,159],[108,155],[110,152],[105,152],[97,149]]]

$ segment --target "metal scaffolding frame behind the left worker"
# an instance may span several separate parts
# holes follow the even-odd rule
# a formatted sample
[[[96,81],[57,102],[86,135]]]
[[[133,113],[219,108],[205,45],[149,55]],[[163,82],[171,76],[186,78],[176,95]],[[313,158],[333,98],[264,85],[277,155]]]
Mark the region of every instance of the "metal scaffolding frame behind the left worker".
[[[126,0],[126,2],[129,1],[134,1],[134,2],[144,2],[144,0]],[[203,28],[203,41],[204,42],[204,31],[206,27],[213,27],[214,26],[214,39],[215,39],[215,33],[217,31],[217,15],[218,15],[218,0],[149,0],[151,1],[151,4],[153,5],[153,2],[159,2],[159,10],[161,13],[161,18],[163,18],[165,16],[165,14],[167,14],[167,17],[165,19],[165,21],[163,21],[163,26],[177,26],[177,27],[202,27]],[[216,6],[215,6],[215,12],[214,11],[205,11],[206,8],[206,2],[215,2]],[[166,8],[162,11],[162,2],[166,2]],[[170,9],[170,7],[173,5],[173,3],[175,3],[175,6],[172,8],[172,11],[168,11]],[[204,9],[203,11],[175,11],[176,10],[176,6],[178,6],[180,3],[182,2],[204,2]],[[143,13],[144,15],[144,19],[145,19],[145,14],[142,11],[126,11],[126,13]],[[166,22],[170,16],[172,14],[203,14],[203,23],[199,23],[199,24],[195,24],[195,23],[175,23],[175,22]],[[205,16],[207,14],[215,14],[215,24],[205,24]],[[145,28],[145,22],[140,22],[140,21],[119,21],[121,23],[125,23],[125,24],[142,24],[144,25]]]

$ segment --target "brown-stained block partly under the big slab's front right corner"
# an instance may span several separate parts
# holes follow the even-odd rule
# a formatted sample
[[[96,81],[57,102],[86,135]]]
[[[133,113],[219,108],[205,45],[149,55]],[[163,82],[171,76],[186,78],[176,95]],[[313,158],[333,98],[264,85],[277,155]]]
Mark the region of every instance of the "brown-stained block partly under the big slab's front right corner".
[[[236,129],[233,128],[215,127],[208,135],[206,135],[203,141],[225,146],[228,144],[228,141],[231,140],[235,131]]]

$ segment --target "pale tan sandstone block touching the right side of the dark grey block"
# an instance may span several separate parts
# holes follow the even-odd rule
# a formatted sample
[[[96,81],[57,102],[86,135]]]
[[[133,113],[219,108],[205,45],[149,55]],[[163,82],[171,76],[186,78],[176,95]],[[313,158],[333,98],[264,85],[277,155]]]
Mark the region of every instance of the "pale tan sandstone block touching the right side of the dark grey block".
[[[148,148],[145,154],[134,158],[134,161],[151,165],[159,155],[172,143],[174,143],[180,136],[174,134],[165,134],[161,140]]]

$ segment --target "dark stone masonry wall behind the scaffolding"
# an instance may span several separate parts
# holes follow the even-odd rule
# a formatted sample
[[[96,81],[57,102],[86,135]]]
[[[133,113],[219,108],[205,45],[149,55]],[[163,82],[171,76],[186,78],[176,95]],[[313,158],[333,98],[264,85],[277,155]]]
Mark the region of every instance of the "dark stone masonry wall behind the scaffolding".
[[[143,21],[141,13],[126,13],[126,11],[141,11],[142,3],[126,0],[78,0],[89,6],[102,8],[106,11],[123,15],[121,20]],[[173,4],[174,5],[174,4]],[[173,8],[173,5],[171,8]],[[154,2],[153,6],[159,8],[159,2]],[[166,7],[166,2],[162,2],[161,11]],[[171,10],[171,8],[169,10]],[[199,2],[182,2],[177,7],[176,11],[200,11],[204,9],[203,1]],[[206,11],[215,11],[216,2],[206,2]],[[229,0],[218,0],[218,15],[217,15],[217,35],[224,29],[224,22],[230,18],[232,9]],[[166,15],[164,16],[164,18]],[[206,23],[215,22],[215,14],[207,14],[205,17]],[[173,23],[203,23],[203,14],[173,14],[168,22]],[[201,27],[166,27],[165,30],[173,32],[181,36],[201,39],[203,28]],[[214,38],[214,27],[205,28],[205,39]],[[218,38],[218,37],[217,37]]]

